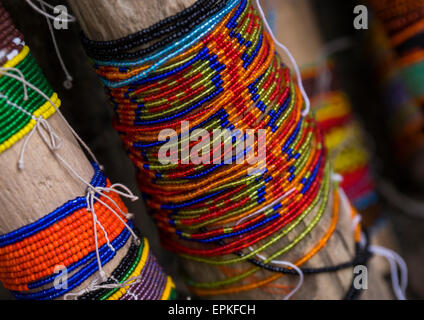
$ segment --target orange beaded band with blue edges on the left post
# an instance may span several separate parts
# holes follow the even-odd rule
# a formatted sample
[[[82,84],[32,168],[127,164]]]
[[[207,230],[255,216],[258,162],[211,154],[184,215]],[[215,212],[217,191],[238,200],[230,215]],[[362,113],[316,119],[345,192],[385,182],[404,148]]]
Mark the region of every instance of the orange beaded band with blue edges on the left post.
[[[110,185],[97,165],[95,169],[94,185]],[[126,210],[117,194],[113,193],[109,198],[99,199],[109,206],[113,206],[113,201],[122,210]],[[120,247],[128,239],[129,233],[123,232],[124,225],[110,210],[105,210],[105,206],[99,202],[96,202],[94,206],[98,221],[104,225],[105,232],[98,235],[100,251],[104,251],[105,256],[111,257],[111,253],[114,255],[115,252],[110,250],[106,242],[113,242],[119,236],[122,240],[115,242],[117,247]],[[68,272],[88,265],[87,262],[92,265],[90,260],[93,260],[95,256],[92,229],[92,218],[91,213],[86,209],[86,199],[80,197],[69,201],[30,225],[2,235],[0,275],[3,285],[13,290],[15,296],[19,298],[46,297],[46,293],[35,295],[17,291],[28,291],[52,282],[54,276],[51,275],[57,265],[65,266]],[[8,245],[5,245],[6,243]],[[90,270],[87,269],[86,277],[95,271],[93,267]],[[74,279],[81,283],[83,278],[74,277]],[[71,284],[72,281],[69,281],[69,286]],[[49,297],[57,294],[55,290],[49,292],[53,292],[49,294]]]

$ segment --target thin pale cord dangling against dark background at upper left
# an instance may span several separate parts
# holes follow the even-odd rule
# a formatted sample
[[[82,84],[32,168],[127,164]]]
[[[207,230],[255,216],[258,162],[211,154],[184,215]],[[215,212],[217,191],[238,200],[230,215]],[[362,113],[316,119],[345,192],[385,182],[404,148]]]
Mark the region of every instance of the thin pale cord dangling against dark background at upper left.
[[[51,23],[50,20],[57,21],[59,19],[61,22],[68,23],[68,22],[75,22],[76,19],[75,19],[74,16],[72,16],[68,13],[65,13],[66,16],[67,16],[66,19],[62,19],[61,17],[60,18],[55,17],[55,16],[46,12],[46,7],[49,7],[50,9],[53,9],[53,10],[55,9],[55,7],[53,7],[52,5],[48,4],[47,2],[45,2],[43,0],[37,0],[37,1],[40,3],[41,9],[39,7],[37,7],[31,0],[26,0],[26,2],[30,5],[31,8],[33,8],[36,12],[38,12],[39,14],[46,17],[47,25],[49,27],[50,35],[51,35],[51,38],[52,38],[52,41],[53,41],[54,50],[56,52],[56,56],[59,60],[59,63],[61,65],[62,70],[65,73],[65,77],[66,77],[66,80],[63,82],[63,86],[64,86],[65,89],[69,90],[69,89],[72,88],[73,78],[72,78],[71,74],[69,73],[68,68],[65,65],[65,62],[63,61],[62,54],[60,53],[59,46],[57,45],[56,36],[54,34],[53,26],[52,26],[52,23]]]

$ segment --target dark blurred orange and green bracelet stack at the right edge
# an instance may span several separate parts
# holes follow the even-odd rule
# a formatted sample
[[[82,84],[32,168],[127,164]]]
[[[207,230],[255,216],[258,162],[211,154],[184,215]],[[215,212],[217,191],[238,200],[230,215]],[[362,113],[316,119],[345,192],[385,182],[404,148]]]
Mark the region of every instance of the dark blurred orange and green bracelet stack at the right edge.
[[[400,161],[424,149],[424,2],[370,0],[378,18],[374,52],[384,80],[389,128]]]

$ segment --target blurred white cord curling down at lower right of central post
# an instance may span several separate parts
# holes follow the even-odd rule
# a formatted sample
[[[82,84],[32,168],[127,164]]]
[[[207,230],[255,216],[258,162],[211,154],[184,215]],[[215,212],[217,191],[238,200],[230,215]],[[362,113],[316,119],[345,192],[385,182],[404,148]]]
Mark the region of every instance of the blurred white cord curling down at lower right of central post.
[[[342,188],[339,188],[340,198],[342,199],[342,204],[346,207],[346,212],[351,213],[351,207],[349,204],[349,200],[343,191]],[[357,225],[361,221],[361,215],[358,213],[357,218],[353,220],[352,226],[353,230],[356,229]],[[364,246],[363,239],[365,237],[361,235],[361,245]],[[384,248],[382,246],[370,245],[368,250],[378,256],[384,257],[387,259],[390,265],[390,273],[392,278],[392,287],[393,292],[398,300],[406,300],[406,287],[408,285],[408,267],[403,260],[403,258],[394,252],[393,250]],[[399,274],[400,273],[400,279]]]

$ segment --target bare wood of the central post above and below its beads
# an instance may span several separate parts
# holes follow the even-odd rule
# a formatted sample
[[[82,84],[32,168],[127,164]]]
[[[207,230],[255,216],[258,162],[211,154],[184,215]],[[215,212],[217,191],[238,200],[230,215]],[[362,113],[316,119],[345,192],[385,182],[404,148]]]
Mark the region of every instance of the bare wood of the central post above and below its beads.
[[[145,28],[154,22],[159,21],[165,16],[176,13],[182,7],[188,7],[194,0],[162,0],[162,1],[143,1],[138,0],[68,0],[73,12],[77,16],[84,33],[95,40],[112,40],[118,37],[126,36],[134,33],[141,28]],[[298,2],[298,1],[296,1]],[[158,5],[160,4],[160,5]],[[303,18],[302,23],[308,19]],[[299,21],[299,24],[301,22]],[[290,24],[285,24],[287,30],[292,34],[297,29]],[[289,32],[289,31],[287,31]],[[308,40],[304,40],[307,42]],[[284,58],[283,58],[284,59]],[[305,60],[308,55],[305,55]],[[105,106],[106,107],[106,106]],[[330,192],[329,203],[332,203]],[[304,241],[301,241],[293,252],[284,256],[285,260],[294,261],[303,253],[310,249],[330,225],[332,206],[329,205],[323,215],[318,226],[308,235]],[[311,213],[313,215],[313,213]],[[306,221],[308,223],[309,221]],[[304,228],[301,223],[300,228]],[[296,229],[297,230],[297,229]],[[295,235],[290,235],[288,239],[282,240],[269,249],[269,252],[275,251],[276,248],[283,247],[288,241],[293,239]],[[315,257],[313,257],[305,266],[321,267],[334,265],[341,262],[349,261],[353,257],[353,234],[352,222],[347,212],[341,211],[337,229],[328,244]],[[194,263],[186,260],[181,261],[181,266],[189,274],[189,276],[198,281],[214,281],[223,278],[223,271],[219,267],[209,266],[205,264]],[[237,267],[240,269],[249,268],[251,265],[240,263]],[[269,276],[270,273],[261,271],[257,273],[259,279],[263,276]],[[295,299],[340,299],[344,297],[348,287],[350,286],[353,276],[352,269],[345,269],[337,273],[324,273],[317,276],[307,276],[305,283],[299,292],[295,295]],[[279,286],[294,286],[297,284],[298,277],[284,276],[273,284]],[[370,279],[370,286],[376,287],[376,294],[373,298],[388,298],[385,288],[379,278]],[[384,288],[383,288],[384,287]],[[383,288],[383,289],[382,289]],[[238,294],[230,294],[225,296],[215,296],[213,298],[221,299],[281,299],[283,293],[273,293],[271,288],[258,288]]]

